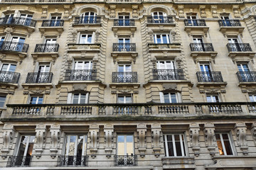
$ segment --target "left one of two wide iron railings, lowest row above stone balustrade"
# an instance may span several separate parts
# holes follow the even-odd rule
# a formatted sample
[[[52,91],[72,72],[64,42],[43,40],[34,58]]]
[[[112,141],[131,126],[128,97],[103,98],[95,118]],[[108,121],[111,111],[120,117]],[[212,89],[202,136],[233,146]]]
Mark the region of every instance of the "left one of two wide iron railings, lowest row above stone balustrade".
[[[91,81],[96,77],[96,69],[69,69],[65,72],[65,81]]]

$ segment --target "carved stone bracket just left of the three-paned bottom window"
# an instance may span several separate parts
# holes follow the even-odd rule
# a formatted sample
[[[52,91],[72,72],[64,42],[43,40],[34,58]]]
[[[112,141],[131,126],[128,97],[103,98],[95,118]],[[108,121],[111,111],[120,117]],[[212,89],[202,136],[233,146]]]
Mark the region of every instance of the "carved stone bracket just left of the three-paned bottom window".
[[[161,136],[161,125],[159,124],[151,125],[152,147],[153,147],[155,157],[159,157],[160,151],[161,151],[160,136]]]

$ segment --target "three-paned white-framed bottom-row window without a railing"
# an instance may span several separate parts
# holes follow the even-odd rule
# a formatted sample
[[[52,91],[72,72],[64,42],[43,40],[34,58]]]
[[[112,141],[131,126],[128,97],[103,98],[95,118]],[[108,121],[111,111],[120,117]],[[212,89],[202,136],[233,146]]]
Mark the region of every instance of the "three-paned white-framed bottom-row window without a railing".
[[[166,157],[186,157],[186,144],[183,134],[164,135]]]

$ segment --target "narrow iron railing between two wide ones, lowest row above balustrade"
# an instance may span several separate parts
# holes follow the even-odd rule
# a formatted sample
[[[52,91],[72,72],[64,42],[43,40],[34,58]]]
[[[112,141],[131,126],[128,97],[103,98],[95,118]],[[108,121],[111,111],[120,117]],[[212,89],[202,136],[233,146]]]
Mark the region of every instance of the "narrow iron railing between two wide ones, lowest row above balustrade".
[[[113,83],[137,83],[137,72],[113,72]]]

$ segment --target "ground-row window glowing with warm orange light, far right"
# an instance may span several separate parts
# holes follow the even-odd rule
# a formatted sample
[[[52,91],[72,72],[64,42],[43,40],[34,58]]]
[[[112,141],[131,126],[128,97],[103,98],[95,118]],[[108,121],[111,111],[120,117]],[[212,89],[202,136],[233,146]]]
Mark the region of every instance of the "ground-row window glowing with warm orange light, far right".
[[[215,133],[215,137],[220,155],[234,154],[229,133]]]

